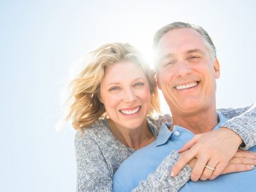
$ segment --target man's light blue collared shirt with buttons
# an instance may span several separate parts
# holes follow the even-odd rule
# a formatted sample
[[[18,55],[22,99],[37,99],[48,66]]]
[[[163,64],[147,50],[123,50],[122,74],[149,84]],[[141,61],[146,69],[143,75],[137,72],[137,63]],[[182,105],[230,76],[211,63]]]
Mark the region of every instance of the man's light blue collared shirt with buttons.
[[[219,129],[228,119],[217,111],[220,122],[213,130]],[[141,148],[124,161],[113,179],[113,191],[132,191],[141,180],[154,173],[157,166],[173,150],[178,150],[195,135],[184,127],[162,124],[157,139]],[[256,152],[256,147],[250,148]],[[180,191],[256,191],[256,169],[248,172],[220,175],[214,180],[192,182],[189,180]]]

